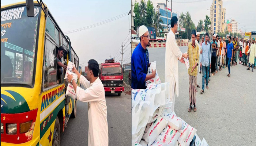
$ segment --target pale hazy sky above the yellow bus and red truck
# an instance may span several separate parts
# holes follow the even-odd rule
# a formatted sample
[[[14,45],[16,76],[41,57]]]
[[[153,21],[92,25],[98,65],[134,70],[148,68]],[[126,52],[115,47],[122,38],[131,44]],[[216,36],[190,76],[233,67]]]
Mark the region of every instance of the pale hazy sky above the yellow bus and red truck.
[[[25,0],[1,0],[1,6],[20,1]],[[95,59],[99,64],[109,59],[110,55],[117,57],[116,61],[121,60],[120,49],[124,41],[124,43],[127,42],[125,45],[127,48],[124,47],[124,52],[126,52],[123,60],[127,63],[131,61],[131,45],[129,44],[131,34],[128,36],[131,28],[131,15],[128,16],[131,10],[131,0],[122,0],[122,2],[120,0],[81,0],[79,3],[78,1],[73,3],[70,0],[43,0],[43,2],[64,34],[67,31],[90,26],[127,13],[126,16],[112,22],[65,35],[71,39],[71,46],[79,57],[82,70],[84,66],[87,66],[89,59]]]

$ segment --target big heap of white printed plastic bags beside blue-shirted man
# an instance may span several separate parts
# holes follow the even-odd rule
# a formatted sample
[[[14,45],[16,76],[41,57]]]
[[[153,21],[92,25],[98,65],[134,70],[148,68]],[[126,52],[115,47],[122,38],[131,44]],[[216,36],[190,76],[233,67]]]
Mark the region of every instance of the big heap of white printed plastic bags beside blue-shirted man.
[[[208,146],[171,110],[169,83],[148,84],[146,89],[132,89],[132,146]]]

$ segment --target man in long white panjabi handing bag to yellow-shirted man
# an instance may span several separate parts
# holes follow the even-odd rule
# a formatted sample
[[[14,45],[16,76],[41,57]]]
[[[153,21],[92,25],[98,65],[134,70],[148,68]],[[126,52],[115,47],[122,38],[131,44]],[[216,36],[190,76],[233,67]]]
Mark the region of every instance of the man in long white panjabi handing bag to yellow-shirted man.
[[[171,19],[171,27],[167,35],[165,49],[165,82],[170,83],[170,102],[173,102],[171,110],[174,111],[175,96],[179,96],[178,60],[185,63],[182,57],[187,58],[187,54],[182,54],[175,40],[175,33],[178,31],[178,18],[176,16],[173,16]]]

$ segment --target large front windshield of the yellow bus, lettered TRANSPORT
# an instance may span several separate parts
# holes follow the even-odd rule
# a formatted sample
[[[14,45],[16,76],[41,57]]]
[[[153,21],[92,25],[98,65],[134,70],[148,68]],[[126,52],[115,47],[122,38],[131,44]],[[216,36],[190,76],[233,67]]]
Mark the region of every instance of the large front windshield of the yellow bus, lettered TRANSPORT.
[[[26,6],[1,9],[1,84],[33,84],[39,9],[34,17]]]

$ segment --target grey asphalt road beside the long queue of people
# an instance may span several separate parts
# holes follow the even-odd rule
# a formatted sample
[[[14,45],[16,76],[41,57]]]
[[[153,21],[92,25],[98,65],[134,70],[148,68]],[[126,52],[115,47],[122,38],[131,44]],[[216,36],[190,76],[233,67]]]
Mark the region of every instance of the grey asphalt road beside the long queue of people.
[[[187,47],[180,50],[184,53]],[[157,72],[164,82],[165,48],[150,48],[148,52],[150,62],[157,61]],[[228,69],[222,69],[211,77],[209,90],[197,92],[197,111],[189,113],[188,72],[185,64],[178,62],[179,97],[176,96],[174,111],[196,128],[200,139],[205,138],[210,146],[255,145],[255,72],[238,64],[231,67],[231,76],[227,77]],[[198,75],[197,83],[202,88],[202,74]]]

